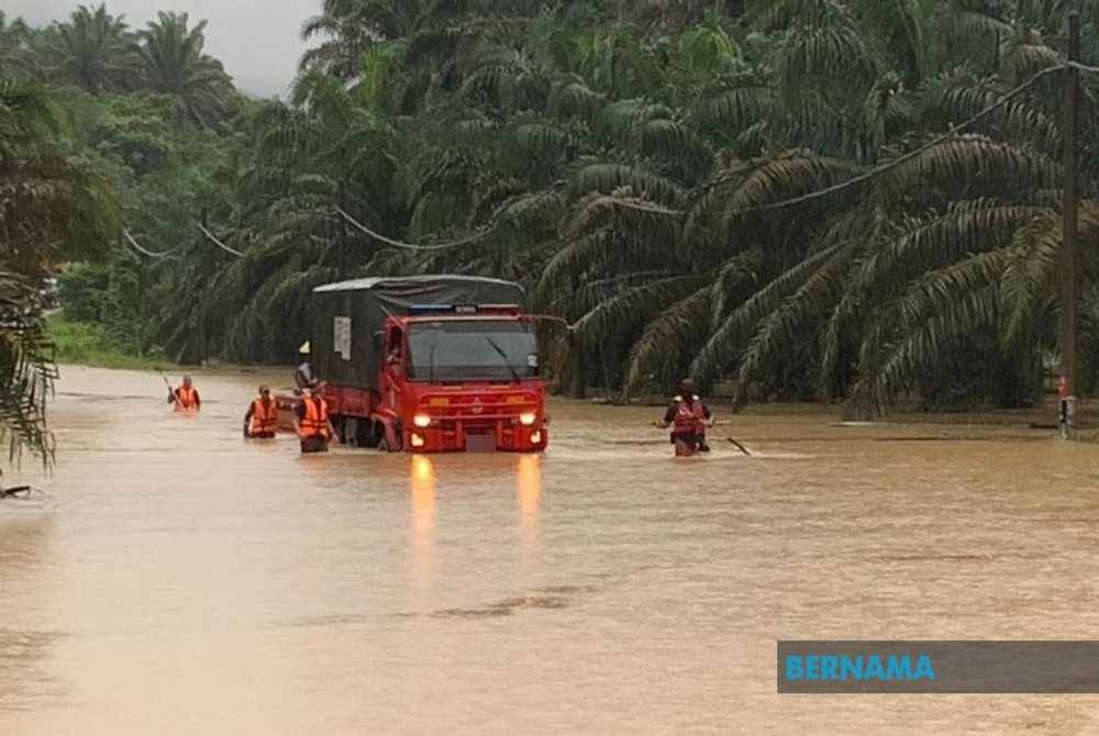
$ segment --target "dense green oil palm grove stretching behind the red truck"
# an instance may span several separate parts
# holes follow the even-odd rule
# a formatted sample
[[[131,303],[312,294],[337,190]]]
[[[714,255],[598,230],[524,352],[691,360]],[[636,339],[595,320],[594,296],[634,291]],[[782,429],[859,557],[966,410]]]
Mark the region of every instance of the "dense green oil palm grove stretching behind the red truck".
[[[1095,62],[1095,0],[326,0],[291,99],[257,103],[201,25],[98,8],[4,24],[0,73],[80,90],[57,92],[75,149],[156,255],[114,237],[66,283],[176,359],[286,361],[315,285],[459,271],[575,324],[564,384],[1017,405],[1058,350],[1063,75],[1041,73],[1072,10]],[[1084,75],[1081,245],[1097,92]]]

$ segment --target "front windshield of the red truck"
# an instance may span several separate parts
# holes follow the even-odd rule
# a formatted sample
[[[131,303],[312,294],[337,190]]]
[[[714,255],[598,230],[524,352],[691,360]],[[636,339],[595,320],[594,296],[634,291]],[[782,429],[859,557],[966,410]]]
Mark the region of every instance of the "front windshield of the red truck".
[[[422,322],[409,327],[408,338],[413,380],[495,381],[539,375],[537,344],[526,322]]]

